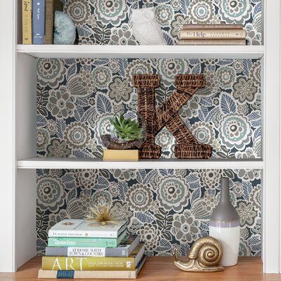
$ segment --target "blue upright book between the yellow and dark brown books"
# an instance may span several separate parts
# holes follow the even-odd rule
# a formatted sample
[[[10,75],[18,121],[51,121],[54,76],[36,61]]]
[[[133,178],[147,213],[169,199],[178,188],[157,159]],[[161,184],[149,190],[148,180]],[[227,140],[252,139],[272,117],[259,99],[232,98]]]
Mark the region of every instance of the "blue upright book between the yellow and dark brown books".
[[[33,44],[44,44],[45,0],[33,0],[32,33]]]

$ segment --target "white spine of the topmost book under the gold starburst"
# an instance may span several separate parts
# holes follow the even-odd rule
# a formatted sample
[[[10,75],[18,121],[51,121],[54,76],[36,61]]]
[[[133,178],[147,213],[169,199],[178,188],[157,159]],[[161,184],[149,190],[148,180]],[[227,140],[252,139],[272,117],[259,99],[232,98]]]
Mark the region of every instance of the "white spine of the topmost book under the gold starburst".
[[[117,238],[117,231],[94,230],[48,230],[48,237],[91,237],[91,238]]]

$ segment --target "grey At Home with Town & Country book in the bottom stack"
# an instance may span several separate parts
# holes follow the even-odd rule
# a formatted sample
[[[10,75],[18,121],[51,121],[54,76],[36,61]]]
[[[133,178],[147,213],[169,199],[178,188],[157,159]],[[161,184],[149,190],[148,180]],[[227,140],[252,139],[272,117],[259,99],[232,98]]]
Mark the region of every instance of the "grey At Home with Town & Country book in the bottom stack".
[[[55,239],[55,238],[54,238]],[[84,239],[84,238],[74,238]],[[91,239],[91,238],[86,238]],[[100,238],[107,239],[107,238]],[[46,256],[129,256],[136,248],[140,237],[127,235],[124,240],[115,248],[103,247],[46,247]]]

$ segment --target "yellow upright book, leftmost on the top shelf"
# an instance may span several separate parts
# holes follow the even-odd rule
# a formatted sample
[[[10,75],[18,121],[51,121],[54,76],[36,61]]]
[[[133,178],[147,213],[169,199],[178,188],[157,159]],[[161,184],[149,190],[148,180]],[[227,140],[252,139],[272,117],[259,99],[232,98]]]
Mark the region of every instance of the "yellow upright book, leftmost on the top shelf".
[[[32,0],[22,0],[22,44],[32,44]]]

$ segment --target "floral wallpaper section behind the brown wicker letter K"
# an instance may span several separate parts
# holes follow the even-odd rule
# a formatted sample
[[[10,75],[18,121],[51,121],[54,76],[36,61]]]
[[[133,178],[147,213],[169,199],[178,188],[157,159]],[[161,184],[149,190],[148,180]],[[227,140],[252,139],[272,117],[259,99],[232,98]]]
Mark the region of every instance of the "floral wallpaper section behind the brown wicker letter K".
[[[37,155],[102,157],[100,133],[110,117],[137,110],[133,74],[157,73],[157,106],[174,90],[176,74],[203,73],[206,87],[180,110],[213,158],[261,157],[261,60],[232,59],[65,59],[37,60]],[[174,157],[174,137],[156,138],[162,157]]]

